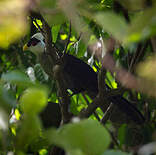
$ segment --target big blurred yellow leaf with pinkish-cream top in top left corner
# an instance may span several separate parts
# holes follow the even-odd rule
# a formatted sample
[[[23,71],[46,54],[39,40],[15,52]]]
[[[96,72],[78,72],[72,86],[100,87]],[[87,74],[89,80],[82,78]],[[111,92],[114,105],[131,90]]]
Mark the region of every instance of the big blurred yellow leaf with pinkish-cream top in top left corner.
[[[0,46],[6,48],[27,30],[25,0],[0,1]]]

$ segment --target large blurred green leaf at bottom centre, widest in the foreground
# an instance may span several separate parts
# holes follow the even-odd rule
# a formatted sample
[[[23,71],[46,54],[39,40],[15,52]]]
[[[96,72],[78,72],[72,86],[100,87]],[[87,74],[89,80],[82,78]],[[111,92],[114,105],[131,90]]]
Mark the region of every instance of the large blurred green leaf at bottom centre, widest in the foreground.
[[[59,131],[47,132],[50,143],[63,147],[67,152],[78,149],[85,154],[103,153],[110,143],[110,135],[97,121],[82,120],[64,125]]]

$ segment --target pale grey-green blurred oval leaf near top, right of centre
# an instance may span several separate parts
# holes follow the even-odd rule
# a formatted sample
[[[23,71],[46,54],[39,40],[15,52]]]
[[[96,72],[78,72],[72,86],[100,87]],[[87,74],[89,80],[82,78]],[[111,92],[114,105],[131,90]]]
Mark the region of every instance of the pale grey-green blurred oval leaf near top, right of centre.
[[[113,35],[117,40],[123,41],[127,34],[126,21],[113,12],[97,13],[95,19],[102,28]]]

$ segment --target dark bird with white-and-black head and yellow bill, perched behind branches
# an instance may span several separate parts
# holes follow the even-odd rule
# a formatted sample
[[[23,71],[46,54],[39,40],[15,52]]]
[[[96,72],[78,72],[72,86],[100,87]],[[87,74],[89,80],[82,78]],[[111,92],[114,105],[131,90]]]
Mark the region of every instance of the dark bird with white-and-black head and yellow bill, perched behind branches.
[[[23,46],[23,51],[26,50],[33,52],[45,72],[49,76],[52,76],[51,60],[50,57],[46,55],[44,37],[40,32],[34,34],[28,43]],[[64,81],[66,89],[70,89],[73,94],[84,91],[91,92],[95,97],[98,94],[98,78],[93,68],[81,59],[68,53],[59,55],[59,60],[63,62],[62,72],[64,78],[62,80]],[[108,86],[107,88],[110,89]],[[145,122],[142,113],[136,106],[122,97],[122,95],[111,96],[108,100],[116,105],[122,113],[125,113],[136,124],[143,124]]]

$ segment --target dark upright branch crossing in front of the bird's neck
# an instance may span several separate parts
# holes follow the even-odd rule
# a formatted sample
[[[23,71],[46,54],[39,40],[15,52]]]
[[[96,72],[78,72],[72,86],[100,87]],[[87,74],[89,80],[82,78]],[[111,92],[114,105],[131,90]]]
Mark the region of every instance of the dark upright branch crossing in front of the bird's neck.
[[[72,115],[69,113],[69,104],[70,104],[70,98],[68,97],[68,93],[65,89],[63,80],[64,77],[62,75],[62,66],[56,65],[57,59],[58,59],[58,51],[57,49],[52,46],[52,36],[51,36],[51,27],[48,25],[46,20],[42,17],[40,13],[36,13],[31,11],[30,12],[31,17],[41,20],[43,24],[43,31],[42,34],[45,38],[45,56],[50,56],[51,60],[49,67],[51,67],[51,74],[54,75],[54,78],[56,79],[57,87],[58,87],[58,94],[59,94],[59,101],[61,105],[61,112],[62,112],[62,124],[68,123],[72,117]],[[52,151],[50,151],[50,154],[58,155],[61,151],[60,148],[57,148],[54,146]]]

